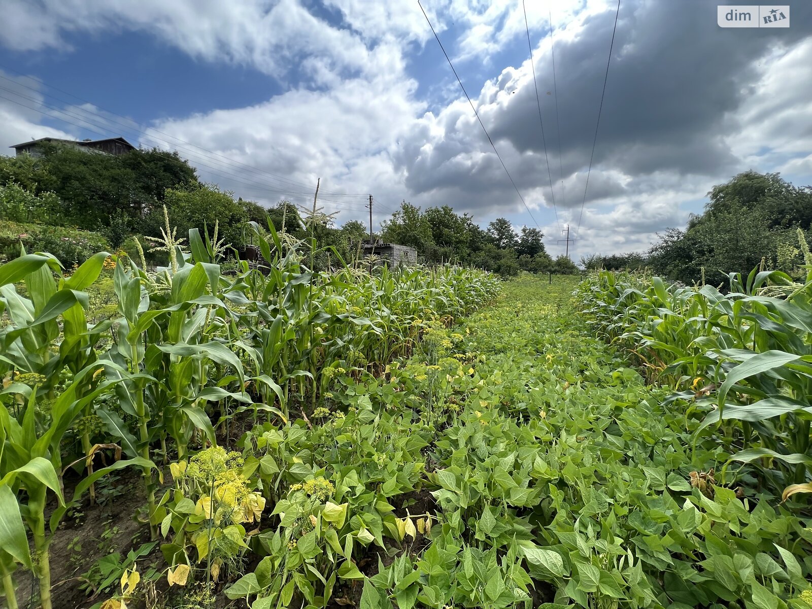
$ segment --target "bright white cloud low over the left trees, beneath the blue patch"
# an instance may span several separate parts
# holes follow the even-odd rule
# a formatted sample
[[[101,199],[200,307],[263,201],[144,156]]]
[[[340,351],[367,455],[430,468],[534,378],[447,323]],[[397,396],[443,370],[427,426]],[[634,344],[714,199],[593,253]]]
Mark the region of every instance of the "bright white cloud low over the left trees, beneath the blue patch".
[[[361,193],[373,193],[381,201],[405,196],[403,175],[393,167],[390,149],[421,108],[412,99],[414,87],[402,76],[344,80],[327,92],[296,89],[257,106],[214,110],[155,127],[235,162],[312,185],[309,189],[247,173],[240,175],[243,183],[232,180],[230,185],[227,177],[201,167],[204,178],[225,182],[244,197],[270,203],[285,196],[304,203],[312,198],[317,178],[322,178],[322,201],[331,209],[343,209],[339,217],[343,222],[363,218],[361,206],[366,201]],[[166,139],[161,134],[155,137]],[[192,161],[196,158],[189,156]],[[267,188],[249,187],[245,180],[265,182]],[[357,195],[338,197],[336,192]]]

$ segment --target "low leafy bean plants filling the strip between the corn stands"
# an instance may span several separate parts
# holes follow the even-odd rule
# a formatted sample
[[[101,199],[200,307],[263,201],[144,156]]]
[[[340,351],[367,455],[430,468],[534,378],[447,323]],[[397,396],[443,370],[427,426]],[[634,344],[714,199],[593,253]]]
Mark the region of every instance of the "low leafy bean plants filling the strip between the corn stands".
[[[356,580],[362,607],[803,607],[806,520],[709,475],[701,418],[584,334],[572,287],[508,283],[387,373],[336,367],[317,420],[249,431],[275,518],[227,596],[326,607]]]

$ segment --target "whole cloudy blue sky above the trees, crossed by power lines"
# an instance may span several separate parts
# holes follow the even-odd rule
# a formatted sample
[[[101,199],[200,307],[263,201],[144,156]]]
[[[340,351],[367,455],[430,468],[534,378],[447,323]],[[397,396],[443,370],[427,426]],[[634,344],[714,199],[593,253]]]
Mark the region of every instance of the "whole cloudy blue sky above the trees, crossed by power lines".
[[[451,205],[538,224],[553,254],[570,223],[576,257],[647,248],[738,171],[812,183],[807,3],[734,31],[705,0],[624,0],[586,192],[616,2],[526,2],[546,150],[521,2],[423,5],[530,212],[406,0],[8,0],[0,146],[121,135],[267,205],[321,178],[339,222],[371,192],[376,224]]]

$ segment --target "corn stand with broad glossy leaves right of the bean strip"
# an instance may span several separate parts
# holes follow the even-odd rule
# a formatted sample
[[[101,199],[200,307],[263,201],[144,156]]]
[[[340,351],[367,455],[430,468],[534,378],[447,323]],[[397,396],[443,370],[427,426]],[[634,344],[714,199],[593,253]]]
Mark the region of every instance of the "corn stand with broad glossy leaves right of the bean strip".
[[[808,482],[812,459],[806,395],[812,295],[798,286],[786,300],[768,296],[780,271],[730,274],[729,292],[666,287],[661,279],[594,274],[580,287],[593,326],[633,350],[652,376],[674,387],[672,400],[701,415],[698,438],[711,438],[738,466],[781,495]]]

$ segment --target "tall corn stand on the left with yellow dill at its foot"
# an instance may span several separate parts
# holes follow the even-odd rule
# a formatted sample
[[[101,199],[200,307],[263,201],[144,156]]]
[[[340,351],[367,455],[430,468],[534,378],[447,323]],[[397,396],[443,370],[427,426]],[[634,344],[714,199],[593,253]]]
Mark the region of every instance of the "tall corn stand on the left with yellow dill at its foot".
[[[190,457],[201,443],[216,442],[212,417],[220,413],[218,423],[228,425],[253,412],[257,424],[262,413],[268,425],[285,425],[292,405],[317,400],[322,370],[339,358],[356,370],[378,369],[376,362],[412,350],[420,339],[421,326],[412,326],[417,316],[451,322],[492,299],[498,286],[487,274],[451,266],[313,274],[300,266],[295,249],[283,248],[272,226],[270,243],[256,236],[268,275],[241,263],[226,278],[214,262],[216,244],[192,228],[192,253],[185,253],[169,226],[159,241],[171,264],[154,273],[106,252],[64,277],[50,255],[28,254],[0,266],[0,577],[6,594],[13,596],[11,573],[23,564],[39,579],[42,607],[53,606],[48,495],[58,499],[50,512],[54,530],[86,492],[94,500],[100,477],[131,465],[144,478],[144,521],[153,538],[159,530],[172,533],[162,547],[171,583],[183,585],[190,566],[203,559],[206,577],[216,580],[221,568],[231,577],[248,551],[244,524],[260,518],[261,493],[277,491],[264,481],[255,491],[259,481],[249,480],[243,458],[222,448]],[[91,295],[100,308],[89,322]],[[94,445],[98,435],[108,441]],[[76,436],[87,475],[66,501],[59,482],[63,439]],[[167,440],[188,469],[171,469],[175,493],[159,498],[152,458],[166,459]],[[106,450],[114,451],[114,463],[94,469],[94,457]],[[273,471],[268,460],[259,469]],[[311,486],[322,490],[311,493]],[[329,487],[303,486],[308,497],[322,497]],[[123,594],[136,583],[128,575]]]

